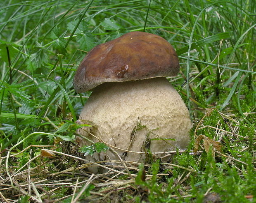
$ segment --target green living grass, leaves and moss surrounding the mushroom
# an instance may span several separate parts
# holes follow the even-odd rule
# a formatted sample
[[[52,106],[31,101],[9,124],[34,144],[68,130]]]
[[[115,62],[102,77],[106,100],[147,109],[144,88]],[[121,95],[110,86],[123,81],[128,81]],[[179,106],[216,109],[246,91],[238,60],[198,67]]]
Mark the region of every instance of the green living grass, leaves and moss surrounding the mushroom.
[[[213,160],[206,152],[197,163],[188,152],[177,154],[176,164],[190,165],[200,174],[186,180],[192,196],[181,201],[202,202],[209,185],[224,202],[246,202],[245,195],[256,191],[256,1],[2,0],[0,6],[1,150],[50,145],[56,138],[73,141],[81,127],[75,122],[90,95],[73,89],[79,63],[97,44],[145,31],[164,37],[177,51],[187,80],[181,75],[170,80],[194,124],[216,107],[232,115],[239,134],[247,138],[224,136],[222,143],[223,154],[245,165],[227,164],[223,157]],[[204,125],[217,123],[229,129],[216,112],[204,120]],[[218,140],[214,129],[199,133]],[[159,170],[158,164],[152,167]],[[179,193],[171,185],[183,172],[178,168],[165,180],[170,194]],[[174,202],[157,189],[156,180],[137,183],[154,191],[150,201]]]

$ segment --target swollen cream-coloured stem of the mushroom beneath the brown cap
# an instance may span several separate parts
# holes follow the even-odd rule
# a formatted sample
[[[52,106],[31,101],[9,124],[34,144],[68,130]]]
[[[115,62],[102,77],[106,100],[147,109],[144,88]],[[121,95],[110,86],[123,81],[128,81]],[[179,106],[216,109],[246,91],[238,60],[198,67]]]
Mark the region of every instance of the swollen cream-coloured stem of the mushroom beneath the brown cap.
[[[189,131],[192,127],[186,105],[164,77],[98,86],[83,107],[79,120],[83,119],[95,122],[97,127],[83,127],[78,129],[78,134],[98,142],[90,132],[109,145],[134,152],[144,152],[143,146],[149,147],[151,152],[184,149],[190,140]],[[145,128],[138,127],[131,142],[138,119]],[[154,138],[157,139],[150,141]],[[80,137],[77,137],[77,141],[79,146],[91,145]],[[150,144],[146,145],[146,141],[150,141]],[[114,150],[120,156],[124,153],[123,150]],[[133,152],[123,157],[126,161],[140,162],[144,158],[145,155]],[[89,158],[91,161],[109,159],[118,160],[109,151],[95,153]]]

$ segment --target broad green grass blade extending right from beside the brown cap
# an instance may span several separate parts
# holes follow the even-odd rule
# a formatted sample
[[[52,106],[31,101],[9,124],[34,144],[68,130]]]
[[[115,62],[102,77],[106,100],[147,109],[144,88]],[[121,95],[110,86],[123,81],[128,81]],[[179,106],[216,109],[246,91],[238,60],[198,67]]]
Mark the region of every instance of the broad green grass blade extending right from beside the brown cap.
[[[194,49],[194,48],[202,47],[205,44],[209,44],[211,42],[216,42],[216,41],[219,41],[220,39],[225,39],[225,38],[228,38],[228,37],[230,37],[229,33],[228,32],[223,32],[223,33],[218,33],[216,35],[206,37],[204,39],[200,39],[199,41],[194,42],[194,43],[191,44],[191,50]],[[176,53],[177,53],[177,55],[181,55],[183,53],[186,53],[187,51],[188,51],[188,45],[184,46],[183,48],[179,48],[178,50],[176,50]]]

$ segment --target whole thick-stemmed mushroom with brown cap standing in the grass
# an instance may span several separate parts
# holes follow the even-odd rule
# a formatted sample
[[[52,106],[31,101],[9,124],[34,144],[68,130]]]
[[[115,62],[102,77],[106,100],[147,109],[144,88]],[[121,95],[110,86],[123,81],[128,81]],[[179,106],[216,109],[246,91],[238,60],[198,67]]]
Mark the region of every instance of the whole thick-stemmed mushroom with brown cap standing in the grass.
[[[78,93],[92,90],[79,120],[96,125],[78,129],[78,134],[116,147],[126,161],[143,161],[145,155],[134,152],[145,148],[151,152],[186,148],[192,127],[189,111],[166,79],[179,69],[171,44],[154,34],[129,32],[95,46],[78,67],[73,85]],[[79,146],[90,145],[76,139]],[[108,151],[89,157],[115,159]]]

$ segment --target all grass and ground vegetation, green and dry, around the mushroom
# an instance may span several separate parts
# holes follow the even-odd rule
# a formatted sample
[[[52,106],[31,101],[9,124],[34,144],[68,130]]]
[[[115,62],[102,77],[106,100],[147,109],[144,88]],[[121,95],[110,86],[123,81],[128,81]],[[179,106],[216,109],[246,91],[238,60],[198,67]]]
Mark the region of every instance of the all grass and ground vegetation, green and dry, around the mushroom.
[[[1,201],[256,202],[255,15],[253,0],[3,0]],[[170,80],[191,143],[168,163],[149,153],[144,165],[91,174],[74,141],[90,93],[76,94],[73,76],[96,44],[143,30],[179,55]]]

